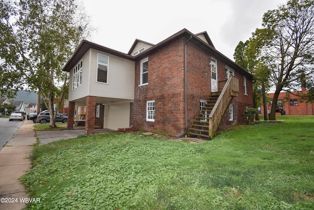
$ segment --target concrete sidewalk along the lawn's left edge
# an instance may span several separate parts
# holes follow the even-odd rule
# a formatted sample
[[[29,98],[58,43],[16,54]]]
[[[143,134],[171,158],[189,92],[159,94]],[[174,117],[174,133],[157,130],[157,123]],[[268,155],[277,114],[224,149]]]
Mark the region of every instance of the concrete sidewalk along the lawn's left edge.
[[[33,144],[36,143],[33,128],[32,121],[24,121],[20,129],[0,151],[0,210],[25,208],[25,203],[20,199],[28,196],[18,179],[31,167],[28,157],[33,150]]]

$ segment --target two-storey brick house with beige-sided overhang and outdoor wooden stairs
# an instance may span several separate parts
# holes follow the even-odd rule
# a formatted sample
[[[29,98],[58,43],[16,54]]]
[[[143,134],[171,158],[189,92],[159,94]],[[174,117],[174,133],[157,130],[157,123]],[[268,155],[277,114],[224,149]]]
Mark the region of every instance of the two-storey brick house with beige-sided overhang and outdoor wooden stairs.
[[[70,72],[68,129],[94,126],[211,139],[245,122],[252,75],[213,46],[208,33],[183,29],[158,44],[136,39],[128,54],[83,40]],[[189,130],[187,130],[187,128]]]

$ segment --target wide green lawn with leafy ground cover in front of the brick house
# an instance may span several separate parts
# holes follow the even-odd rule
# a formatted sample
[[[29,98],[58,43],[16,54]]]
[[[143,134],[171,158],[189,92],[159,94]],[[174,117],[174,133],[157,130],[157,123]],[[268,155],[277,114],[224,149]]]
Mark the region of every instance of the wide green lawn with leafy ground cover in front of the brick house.
[[[314,116],[279,116],[190,144],[128,133],[35,148],[28,209],[314,209]]]

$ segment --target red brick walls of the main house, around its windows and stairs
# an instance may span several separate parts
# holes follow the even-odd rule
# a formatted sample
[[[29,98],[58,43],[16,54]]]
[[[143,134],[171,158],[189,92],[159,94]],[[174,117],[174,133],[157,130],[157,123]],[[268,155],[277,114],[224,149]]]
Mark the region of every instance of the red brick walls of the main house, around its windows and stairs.
[[[184,111],[184,43],[181,38],[150,55],[148,61],[148,85],[140,85],[140,60],[135,63],[135,95],[131,104],[130,123],[135,129],[162,131],[178,136],[185,129]],[[211,94],[210,57],[205,50],[191,41],[187,43],[187,116],[188,126],[200,111],[200,99],[208,99]],[[226,64],[217,60],[218,81],[225,80]],[[234,69],[236,70],[236,69]],[[243,93],[243,75],[235,71],[239,78],[240,93],[238,100],[241,111],[232,122],[229,111],[226,113],[226,126],[245,122],[246,106],[253,105],[252,81],[247,78],[248,95]],[[146,121],[146,101],[155,100],[155,122]],[[244,107],[244,108],[243,108]]]

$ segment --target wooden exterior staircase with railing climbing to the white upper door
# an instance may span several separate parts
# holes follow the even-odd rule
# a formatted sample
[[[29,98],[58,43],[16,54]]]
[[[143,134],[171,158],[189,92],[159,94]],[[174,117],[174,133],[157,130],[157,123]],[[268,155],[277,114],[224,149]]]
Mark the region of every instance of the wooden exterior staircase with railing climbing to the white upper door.
[[[221,92],[212,93],[191,128],[188,137],[211,140],[232,99],[238,95],[239,80],[231,76]]]

